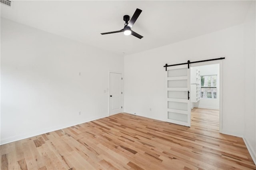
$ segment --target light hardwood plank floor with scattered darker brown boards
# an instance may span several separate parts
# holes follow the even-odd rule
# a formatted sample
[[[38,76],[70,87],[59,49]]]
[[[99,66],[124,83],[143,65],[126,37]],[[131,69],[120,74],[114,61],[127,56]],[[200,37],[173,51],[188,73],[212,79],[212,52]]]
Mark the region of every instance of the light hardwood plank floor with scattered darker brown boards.
[[[4,144],[1,170],[256,169],[242,138],[218,133],[218,111],[192,109],[191,124],[120,113]]]

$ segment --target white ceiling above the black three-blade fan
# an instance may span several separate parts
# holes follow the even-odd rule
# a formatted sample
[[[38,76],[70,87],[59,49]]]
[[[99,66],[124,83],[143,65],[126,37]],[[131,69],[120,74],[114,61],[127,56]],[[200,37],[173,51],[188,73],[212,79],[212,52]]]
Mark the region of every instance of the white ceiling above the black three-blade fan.
[[[1,17],[114,53],[131,54],[218,31],[244,22],[251,1],[14,1]],[[123,33],[123,16],[142,10]]]

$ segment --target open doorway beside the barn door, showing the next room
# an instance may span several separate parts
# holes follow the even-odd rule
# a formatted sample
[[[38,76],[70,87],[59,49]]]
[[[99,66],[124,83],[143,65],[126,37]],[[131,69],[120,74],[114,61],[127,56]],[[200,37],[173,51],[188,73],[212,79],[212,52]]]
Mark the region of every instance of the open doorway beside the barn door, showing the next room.
[[[222,132],[222,61],[191,65],[190,99],[191,125]]]

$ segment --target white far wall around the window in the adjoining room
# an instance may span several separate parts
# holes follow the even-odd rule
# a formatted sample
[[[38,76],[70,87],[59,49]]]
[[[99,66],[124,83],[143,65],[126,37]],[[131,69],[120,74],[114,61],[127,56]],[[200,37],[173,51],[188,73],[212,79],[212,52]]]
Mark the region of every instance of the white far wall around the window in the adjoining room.
[[[194,107],[206,108],[206,109],[219,109],[220,108],[220,69],[219,64],[202,65],[197,67],[191,67],[198,69],[200,75],[217,75],[217,98],[216,99],[200,99],[196,103],[192,103]]]

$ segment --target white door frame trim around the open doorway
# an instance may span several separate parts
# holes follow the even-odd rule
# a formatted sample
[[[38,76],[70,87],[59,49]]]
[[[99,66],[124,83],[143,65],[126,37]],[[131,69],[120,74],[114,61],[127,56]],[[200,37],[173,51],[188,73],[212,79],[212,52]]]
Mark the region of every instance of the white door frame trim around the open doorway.
[[[214,60],[214,61],[204,61],[201,63],[191,63],[190,67],[197,67],[202,65],[212,65],[212,64],[219,64],[219,71],[220,71],[220,108],[219,108],[219,132],[222,133],[222,115],[223,115],[223,61],[222,60]]]

